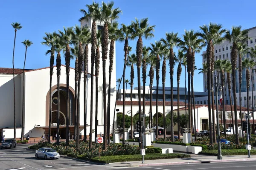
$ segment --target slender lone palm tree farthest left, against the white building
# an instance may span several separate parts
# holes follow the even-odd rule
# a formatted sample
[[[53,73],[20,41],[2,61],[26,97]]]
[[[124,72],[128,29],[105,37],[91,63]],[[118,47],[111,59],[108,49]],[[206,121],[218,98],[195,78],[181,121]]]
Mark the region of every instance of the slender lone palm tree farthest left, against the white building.
[[[12,72],[13,72],[13,127],[14,127],[14,139],[16,139],[16,113],[15,113],[15,74],[14,74],[14,51],[15,51],[15,41],[16,41],[16,34],[17,30],[20,30],[22,26],[20,23],[12,23],[12,27],[15,29],[15,36],[14,36],[14,44],[13,44],[13,52],[12,52]]]

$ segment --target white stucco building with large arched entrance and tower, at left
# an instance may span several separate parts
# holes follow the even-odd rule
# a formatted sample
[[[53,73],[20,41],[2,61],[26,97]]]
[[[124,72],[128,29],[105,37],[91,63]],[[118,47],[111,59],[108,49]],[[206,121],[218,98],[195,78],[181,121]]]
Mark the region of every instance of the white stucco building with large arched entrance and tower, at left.
[[[91,28],[92,21],[82,21],[81,26],[88,26]],[[96,22],[98,28],[102,25],[99,22]],[[102,74],[102,60],[100,61],[100,70],[99,70],[99,88],[98,88],[98,120],[95,120],[95,77],[94,77],[94,90],[93,93],[90,90],[91,88],[91,62],[90,62],[90,45],[89,45],[89,61],[88,61],[88,72],[87,80],[84,80],[83,74],[81,76],[81,86],[80,86],[80,130],[79,133],[83,137],[84,125],[87,126],[87,135],[89,134],[90,126],[93,126],[95,129],[95,121],[98,121],[98,134],[103,132],[103,74]],[[111,105],[115,103],[115,94],[116,94],[116,59],[114,53],[113,60],[113,73],[111,77]],[[63,56],[61,56],[63,57]],[[62,60],[64,61],[64,59]],[[74,61],[71,61],[74,62]],[[62,62],[64,64],[64,62]],[[109,60],[106,60],[106,65],[109,65]],[[108,92],[108,67],[106,68],[106,80],[107,80],[107,92]],[[94,69],[95,71],[95,69]],[[34,70],[25,70],[24,76],[24,113],[25,113],[25,127],[24,132],[25,136],[40,137],[42,134],[47,136],[48,134],[48,125],[49,125],[49,116],[52,116],[52,128],[51,136],[54,136],[57,130],[57,105],[56,105],[56,96],[57,96],[57,75],[56,67],[53,70],[52,76],[52,91],[49,91],[49,67],[38,68]],[[16,101],[16,127],[17,134],[16,137],[21,137],[21,123],[22,123],[22,79],[23,79],[23,70],[15,69],[15,101]],[[75,99],[75,70],[70,68],[70,77],[69,77],[69,90],[70,90],[70,136],[74,134],[74,99]],[[86,86],[86,96],[84,96],[84,81],[87,81]],[[52,100],[49,101],[49,95],[52,95]],[[90,117],[90,97],[93,95],[93,117]],[[86,118],[87,121],[84,122],[84,98],[86,99]],[[108,99],[108,94],[107,94]],[[49,114],[49,102],[52,102],[52,113]],[[13,111],[13,75],[12,68],[0,68],[0,136],[5,135],[5,138],[13,138],[14,134],[14,111]],[[110,113],[114,112],[114,108],[110,107]],[[60,136],[62,139],[66,137],[66,71],[65,65],[61,65],[61,77],[60,77]],[[113,114],[111,114],[111,122],[113,122]],[[90,125],[90,119],[93,120],[93,125]],[[112,123],[111,123],[112,129]],[[12,132],[12,133],[11,133]]]

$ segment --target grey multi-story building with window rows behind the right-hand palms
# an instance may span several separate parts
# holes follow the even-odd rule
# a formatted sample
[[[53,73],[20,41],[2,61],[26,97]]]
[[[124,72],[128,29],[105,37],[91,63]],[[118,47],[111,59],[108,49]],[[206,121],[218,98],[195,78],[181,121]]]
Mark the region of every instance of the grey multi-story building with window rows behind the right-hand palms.
[[[250,37],[249,40],[247,40],[245,43],[247,44],[248,47],[254,47],[254,45],[256,45],[256,27],[253,28],[249,28],[248,29],[248,37]],[[229,41],[224,41],[221,44],[218,45],[214,45],[214,54],[215,54],[215,60],[217,59],[228,59],[231,61],[231,49],[232,49],[232,42]],[[206,56],[206,51],[203,51],[202,54],[202,61],[203,63],[207,62],[207,56]],[[250,54],[244,54],[243,58],[250,58]],[[237,62],[238,63],[238,62]],[[238,64],[237,64],[238,67]],[[238,74],[238,70],[236,71],[236,96],[239,99],[239,74]],[[253,85],[253,89],[249,88],[249,107],[252,108],[252,101],[253,101],[253,108],[256,108],[256,91],[255,91],[255,71],[254,69],[252,70],[252,79],[251,82]],[[217,71],[215,71],[214,73],[215,75],[217,75],[218,77],[218,81],[220,82],[220,76],[217,73]],[[204,92],[207,92],[207,74],[203,74],[204,75]],[[227,74],[226,74],[227,76]],[[232,89],[232,88],[231,88]],[[251,91],[253,90],[253,97],[252,97],[252,93]],[[225,91],[227,91],[227,87],[225,89]],[[247,107],[247,94],[246,94],[246,73],[245,73],[245,68],[242,71],[242,84],[241,84],[241,105],[244,107]],[[233,101],[233,91],[231,90],[231,95],[232,95],[232,101]],[[253,98],[253,100],[252,100]],[[227,104],[230,104],[229,101],[229,94],[227,92],[227,99],[225,99]],[[238,100],[239,101],[239,100]],[[237,105],[239,105],[239,102],[237,102]]]

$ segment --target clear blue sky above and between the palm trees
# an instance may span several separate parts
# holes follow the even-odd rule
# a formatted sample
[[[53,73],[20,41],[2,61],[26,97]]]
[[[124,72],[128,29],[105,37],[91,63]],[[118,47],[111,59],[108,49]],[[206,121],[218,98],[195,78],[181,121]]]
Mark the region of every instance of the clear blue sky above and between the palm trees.
[[[100,1],[96,1],[100,2]],[[105,0],[105,2],[107,2]],[[3,1],[0,5],[0,47],[2,48],[0,67],[12,68],[12,50],[14,40],[14,29],[11,23],[18,22],[23,28],[17,31],[15,46],[15,68],[23,68],[25,47],[22,42],[29,39],[34,44],[28,48],[26,68],[35,69],[49,66],[49,56],[45,56],[46,46],[41,45],[45,32],[53,32],[79,25],[78,19],[82,16],[79,9],[85,9],[91,0],[12,0]],[[143,40],[143,45],[150,45],[165,36],[166,32],[178,32],[182,37],[184,29],[195,31],[199,26],[209,22],[220,23],[224,28],[241,25],[242,28],[256,26],[255,0],[114,0],[115,7],[122,10],[119,23],[130,24],[134,17],[148,17],[149,23],[155,25],[154,37]],[[136,40],[137,41],[137,40]],[[136,41],[129,42],[136,49]],[[116,42],[116,78],[121,78],[123,67],[123,43]],[[203,51],[205,48],[203,49]],[[177,51],[177,49],[175,49]],[[202,53],[202,52],[201,52]],[[200,54],[201,54],[200,53]],[[196,54],[195,65],[202,68],[202,57]],[[63,55],[62,55],[63,56]],[[64,64],[64,58],[62,58]],[[72,61],[71,67],[74,66]],[[148,68],[149,71],[149,68]],[[177,65],[175,66],[174,87],[176,81]],[[130,79],[130,68],[126,70],[126,79]],[[137,73],[135,72],[135,75]],[[166,86],[170,86],[169,71],[166,73]],[[185,86],[184,68],[180,79],[180,87]],[[135,77],[135,87],[137,84]],[[195,91],[203,91],[203,76],[195,72]],[[147,81],[147,85],[149,80]],[[161,77],[160,83],[161,85]],[[154,80],[154,85],[156,81]],[[122,86],[121,86],[122,88]]]

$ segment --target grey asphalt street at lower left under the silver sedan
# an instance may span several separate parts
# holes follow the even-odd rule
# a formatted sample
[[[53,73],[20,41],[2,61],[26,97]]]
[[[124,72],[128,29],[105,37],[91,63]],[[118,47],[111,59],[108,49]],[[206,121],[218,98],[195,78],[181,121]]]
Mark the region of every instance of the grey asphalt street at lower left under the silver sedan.
[[[26,150],[29,144],[17,144],[16,148],[0,150],[0,170],[107,170],[108,165],[90,164],[61,157],[36,159],[35,152]]]

